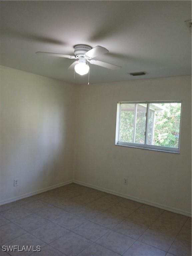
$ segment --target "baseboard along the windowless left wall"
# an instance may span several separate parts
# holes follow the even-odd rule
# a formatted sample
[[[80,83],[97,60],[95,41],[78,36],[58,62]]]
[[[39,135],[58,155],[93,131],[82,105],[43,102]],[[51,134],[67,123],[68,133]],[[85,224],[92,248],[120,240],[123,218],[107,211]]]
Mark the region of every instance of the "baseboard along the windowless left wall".
[[[17,201],[19,199],[23,199],[23,198],[26,198],[26,197],[29,197],[29,196],[34,196],[34,195],[40,194],[42,192],[46,192],[46,191],[54,189],[54,188],[62,187],[64,185],[70,184],[72,182],[73,182],[73,180],[69,180],[69,181],[62,182],[62,183],[59,183],[59,184],[56,184],[56,185],[53,185],[53,186],[49,186],[49,187],[46,187],[46,188],[38,189],[38,190],[29,192],[29,193],[26,193],[26,194],[23,194],[23,195],[20,195],[20,196],[12,197],[12,198],[9,198],[7,200],[0,201],[0,205],[11,203],[11,202],[14,202],[14,201]]]

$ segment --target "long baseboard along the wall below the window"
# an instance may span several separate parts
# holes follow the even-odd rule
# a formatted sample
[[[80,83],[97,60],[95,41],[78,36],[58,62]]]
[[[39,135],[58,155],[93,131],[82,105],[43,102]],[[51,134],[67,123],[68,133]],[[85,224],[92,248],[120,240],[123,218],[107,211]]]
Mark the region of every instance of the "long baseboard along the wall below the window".
[[[191,217],[191,212],[187,212],[187,211],[183,211],[183,210],[180,210],[180,209],[172,208],[172,207],[169,207],[169,206],[166,206],[166,205],[162,205],[162,204],[158,204],[158,203],[151,202],[151,201],[148,201],[148,200],[144,200],[142,198],[128,196],[128,195],[121,194],[121,193],[118,193],[118,192],[113,191],[113,190],[109,190],[109,189],[105,189],[105,188],[102,188],[102,187],[92,185],[92,184],[89,184],[89,183],[86,183],[86,182],[81,182],[81,181],[78,181],[78,180],[73,180],[73,182],[76,183],[76,184],[79,184],[79,185],[83,185],[83,186],[86,186],[86,187],[89,187],[89,188],[94,188],[94,189],[109,193],[109,194],[112,194],[112,195],[115,195],[115,196],[120,196],[120,197],[123,197],[123,198],[126,198],[126,199],[137,201],[139,203],[148,204],[148,205],[158,207],[158,208],[163,209],[163,210],[167,210],[167,211],[171,211],[171,212],[175,212],[175,213],[179,213],[179,214]]]

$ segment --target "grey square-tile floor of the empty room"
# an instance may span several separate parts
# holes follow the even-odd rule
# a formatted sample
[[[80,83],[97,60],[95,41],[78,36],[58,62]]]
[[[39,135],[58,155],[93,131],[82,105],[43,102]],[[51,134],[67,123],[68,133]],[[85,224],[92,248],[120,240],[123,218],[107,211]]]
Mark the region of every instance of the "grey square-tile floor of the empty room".
[[[0,255],[191,256],[191,218],[69,184],[0,206]]]

